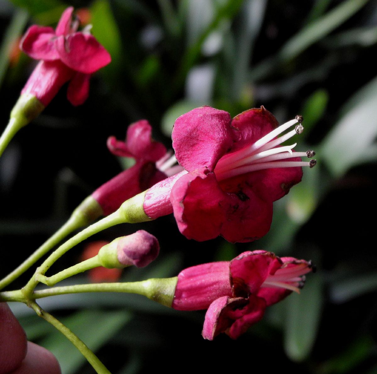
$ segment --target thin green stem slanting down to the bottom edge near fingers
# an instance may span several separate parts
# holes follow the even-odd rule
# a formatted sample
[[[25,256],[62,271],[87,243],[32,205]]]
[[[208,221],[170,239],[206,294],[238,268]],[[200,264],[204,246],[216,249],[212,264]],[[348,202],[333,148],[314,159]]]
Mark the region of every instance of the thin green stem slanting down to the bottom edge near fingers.
[[[81,354],[88,360],[90,365],[93,366],[94,370],[98,374],[111,374],[109,370],[107,370],[106,366],[98,359],[98,357],[84,344],[84,342],[78,338],[69,328],[63,325],[58,319],[52,316],[50,313],[45,312],[37,303],[32,302],[30,303],[32,309],[43,318],[45,321],[49,322],[53,325],[57,330],[59,330],[80,352]]]

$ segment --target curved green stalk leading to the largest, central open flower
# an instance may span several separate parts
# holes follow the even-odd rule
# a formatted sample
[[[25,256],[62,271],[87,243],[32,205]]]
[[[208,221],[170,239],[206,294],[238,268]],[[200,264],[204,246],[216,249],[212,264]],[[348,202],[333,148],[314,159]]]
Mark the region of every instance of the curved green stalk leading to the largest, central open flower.
[[[23,293],[25,296],[30,296],[33,292],[35,286],[39,283],[38,280],[35,279],[35,276],[37,274],[44,275],[46,271],[51,267],[51,265],[58,260],[64,253],[69,251],[72,247],[77,245],[78,243],[82,242],[83,240],[87,239],[88,237],[92,236],[93,234],[97,234],[102,230],[105,230],[106,228],[112,227],[114,225],[118,225],[119,223],[126,222],[124,220],[124,217],[121,216],[120,212],[117,210],[116,212],[110,214],[107,217],[104,217],[103,219],[99,220],[96,223],[93,223],[93,225],[90,225],[83,231],[80,231],[80,233],[77,233],[75,236],[67,240],[65,243],[63,243],[60,247],[55,249],[54,252],[52,252],[51,255],[49,255],[48,258],[42,263],[42,265],[37,269],[37,271],[34,273],[33,277],[29,282],[26,284],[25,287],[23,287]]]

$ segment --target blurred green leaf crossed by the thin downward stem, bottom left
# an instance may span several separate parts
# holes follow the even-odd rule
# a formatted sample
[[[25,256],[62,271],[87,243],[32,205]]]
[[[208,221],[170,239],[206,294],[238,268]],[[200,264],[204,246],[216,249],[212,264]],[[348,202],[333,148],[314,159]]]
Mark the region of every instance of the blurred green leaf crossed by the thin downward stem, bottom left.
[[[61,321],[92,351],[97,351],[131,318],[132,315],[123,310],[117,312],[85,310]],[[62,374],[74,373],[86,361],[80,351],[57,330],[54,330],[39,344],[55,355],[60,363]]]

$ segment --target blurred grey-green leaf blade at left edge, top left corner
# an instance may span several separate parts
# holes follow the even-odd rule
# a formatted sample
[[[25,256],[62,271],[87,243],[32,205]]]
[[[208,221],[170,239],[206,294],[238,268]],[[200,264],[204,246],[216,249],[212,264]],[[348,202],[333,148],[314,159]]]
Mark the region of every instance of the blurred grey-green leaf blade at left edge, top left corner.
[[[28,21],[28,12],[18,9],[14,12],[11,23],[6,29],[0,47],[0,86],[9,64],[10,51],[14,43],[17,41],[25,28]]]

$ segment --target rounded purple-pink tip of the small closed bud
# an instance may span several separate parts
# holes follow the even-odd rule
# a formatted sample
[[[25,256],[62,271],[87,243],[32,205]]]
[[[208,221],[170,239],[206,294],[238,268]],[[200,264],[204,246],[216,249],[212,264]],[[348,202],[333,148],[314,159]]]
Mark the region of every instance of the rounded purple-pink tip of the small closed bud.
[[[160,246],[155,236],[145,230],[120,238],[117,246],[118,260],[125,266],[143,268],[158,256]]]

